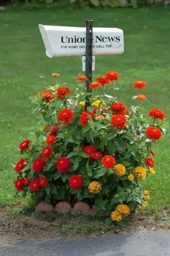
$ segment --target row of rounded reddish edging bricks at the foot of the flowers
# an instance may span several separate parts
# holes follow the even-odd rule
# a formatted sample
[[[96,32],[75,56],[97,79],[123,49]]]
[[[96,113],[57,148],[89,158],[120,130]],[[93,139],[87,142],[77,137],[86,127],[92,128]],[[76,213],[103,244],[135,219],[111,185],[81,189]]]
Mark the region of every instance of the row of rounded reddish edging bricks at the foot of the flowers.
[[[104,210],[98,211],[96,207],[90,208],[85,202],[77,202],[73,208],[68,202],[59,202],[54,209],[50,203],[37,202],[36,211],[51,212],[53,210],[63,214],[71,212],[72,215],[105,216]]]

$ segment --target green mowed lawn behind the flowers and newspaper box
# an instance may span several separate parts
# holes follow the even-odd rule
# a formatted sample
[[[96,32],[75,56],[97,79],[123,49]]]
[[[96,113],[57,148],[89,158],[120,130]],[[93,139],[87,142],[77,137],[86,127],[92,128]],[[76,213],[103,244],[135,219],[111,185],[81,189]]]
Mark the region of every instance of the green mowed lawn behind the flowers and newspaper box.
[[[158,108],[170,116],[170,9],[52,9],[37,11],[0,11],[0,205],[10,205],[15,196],[11,163],[19,159],[18,145],[32,138],[37,117],[28,96],[42,91],[54,81],[52,72],[61,74],[60,82],[76,87],[81,72],[81,59],[49,59],[45,54],[38,24],[85,26],[93,19],[96,27],[118,27],[124,31],[124,54],[96,56],[93,79],[108,70],[119,73],[118,100],[128,107],[138,91],[133,82],[144,80],[143,90],[150,103],[145,108]],[[162,139],[154,148],[156,175],[145,180],[151,195],[147,211],[159,214],[169,204],[170,140]]]

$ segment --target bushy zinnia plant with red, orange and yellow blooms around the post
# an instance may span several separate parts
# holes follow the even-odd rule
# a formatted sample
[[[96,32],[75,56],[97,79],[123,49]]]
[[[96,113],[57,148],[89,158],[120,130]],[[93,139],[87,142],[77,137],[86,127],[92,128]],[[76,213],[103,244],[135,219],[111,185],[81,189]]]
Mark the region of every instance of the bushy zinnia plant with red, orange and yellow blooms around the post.
[[[31,97],[37,105],[34,114],[39,115],[36,140],[25,138],[19,145],[15,187],[52,204],[88,202],[122,225],[150,199],[141,180],[155,174],[151,148],[166,133],[161,128],[165,115],[151,109],[145,116],[143,94],[132,97],[136,103],[129,110],[118,102],[114,89],[121,89],[114,86],[119,79],[115,71],[90,83],[89,93],[88,78],[81,74],[75,92],[57,83],[60,74],[52,76],[56,84]],[[106,86],[112,95],[105,94]],[[143,81],[132,86],[146,90]]]

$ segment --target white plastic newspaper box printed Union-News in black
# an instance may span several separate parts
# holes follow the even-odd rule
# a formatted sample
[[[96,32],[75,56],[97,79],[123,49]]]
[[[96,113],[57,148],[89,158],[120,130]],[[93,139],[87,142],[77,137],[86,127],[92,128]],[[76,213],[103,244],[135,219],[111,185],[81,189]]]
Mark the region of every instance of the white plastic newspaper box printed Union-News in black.
[[[86,28],[44,26],[39,29],[49,58],[56,56],[82,56],[86,53]],[[123,30],[119,28],[93,28],[93,55],[122,54]]]

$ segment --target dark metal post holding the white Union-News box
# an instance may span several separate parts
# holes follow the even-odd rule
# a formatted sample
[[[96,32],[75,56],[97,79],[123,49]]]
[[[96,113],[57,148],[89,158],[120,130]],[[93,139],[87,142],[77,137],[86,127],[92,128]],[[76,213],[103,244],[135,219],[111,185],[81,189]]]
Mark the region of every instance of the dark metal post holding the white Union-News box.
[[[86,20],[86,77],[88,77],[88,81],[86,81],[87,92],[91,92],[89,88],[89,84],[92,81],[92,42],[93,41],[93,20]],[[89,97],[85,98],[85,110],[87,110],[87,106],[90,106]]]

